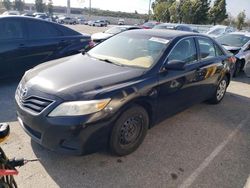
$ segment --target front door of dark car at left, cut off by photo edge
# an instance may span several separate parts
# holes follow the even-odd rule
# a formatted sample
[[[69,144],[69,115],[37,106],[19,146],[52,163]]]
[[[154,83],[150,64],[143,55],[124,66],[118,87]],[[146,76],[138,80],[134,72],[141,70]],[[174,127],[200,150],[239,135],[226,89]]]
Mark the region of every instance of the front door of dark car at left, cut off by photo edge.
[[[20,73],[26,45],[25,33],[22,19],[0,20],[0,78]]]

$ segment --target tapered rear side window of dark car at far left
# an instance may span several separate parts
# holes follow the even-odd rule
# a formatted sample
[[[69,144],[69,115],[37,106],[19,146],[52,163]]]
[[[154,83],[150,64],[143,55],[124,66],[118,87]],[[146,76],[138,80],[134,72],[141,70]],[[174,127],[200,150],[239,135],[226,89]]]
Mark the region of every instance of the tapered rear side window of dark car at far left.
[[[53,25],[46,22],[28,21],[30,39],[43,39],[60,36],[60,32]]]

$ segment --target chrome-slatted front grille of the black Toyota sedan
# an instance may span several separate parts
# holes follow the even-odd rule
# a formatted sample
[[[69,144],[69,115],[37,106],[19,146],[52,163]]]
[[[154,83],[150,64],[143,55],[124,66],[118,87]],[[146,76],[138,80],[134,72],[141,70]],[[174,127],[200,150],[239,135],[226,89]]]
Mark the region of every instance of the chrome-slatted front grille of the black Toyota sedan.
[[[41,113],[46,107],[52,104],[53,101],[40,98],[37,96],[30,96],[26,99],[19,100],[21,107],[28,109],[29,111],[39,114]]]

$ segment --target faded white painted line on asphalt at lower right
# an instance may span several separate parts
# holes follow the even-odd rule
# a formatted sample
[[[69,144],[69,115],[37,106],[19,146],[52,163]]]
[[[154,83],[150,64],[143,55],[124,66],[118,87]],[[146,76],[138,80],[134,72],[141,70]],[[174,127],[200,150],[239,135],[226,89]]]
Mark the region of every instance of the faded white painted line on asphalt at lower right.
[[[179,188],[190,187],[202,171],[214,160],[214,158],[223,150],[223,148],[233,139],[239,130],[248,122],[248,118],[241,123],[230,133],[230,135],[220,143],[214,151],[200,164],[200,166],[179,186]]]

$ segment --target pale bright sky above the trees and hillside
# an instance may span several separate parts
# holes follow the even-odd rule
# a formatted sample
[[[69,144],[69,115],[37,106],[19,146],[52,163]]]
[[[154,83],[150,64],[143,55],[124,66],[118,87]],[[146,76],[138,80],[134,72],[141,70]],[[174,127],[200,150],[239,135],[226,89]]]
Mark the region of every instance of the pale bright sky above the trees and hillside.
[[[46,1],[46,0],[44,0]],[[89,7],[90,0],[71,0],[72,7]],[[150,0],[91,0],[93,8],[103,10],[114,10],[123,12],[147,13]],[[152,0],[153,2],[154,0]],[[25,2],[34,2],[34,0],[25,0]],[[245,10],[250,19],[250,0],[226,0],[227,10],[234,17]],[[54,5],[66,6],[67,0],[53,0]]]

